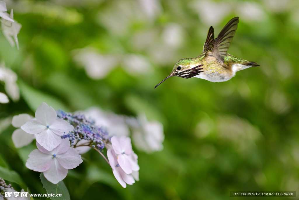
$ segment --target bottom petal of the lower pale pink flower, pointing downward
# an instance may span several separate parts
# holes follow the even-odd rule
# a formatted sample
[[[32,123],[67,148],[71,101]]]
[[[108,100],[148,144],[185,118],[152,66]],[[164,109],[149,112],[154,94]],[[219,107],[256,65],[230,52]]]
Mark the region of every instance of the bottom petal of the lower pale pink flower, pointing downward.
[[[67,174],[68,170],[63,168],[56,158],[53,159],[50,169],[44,172],[45,178],[53,184],[57,184],[59,181],[62,181]]]

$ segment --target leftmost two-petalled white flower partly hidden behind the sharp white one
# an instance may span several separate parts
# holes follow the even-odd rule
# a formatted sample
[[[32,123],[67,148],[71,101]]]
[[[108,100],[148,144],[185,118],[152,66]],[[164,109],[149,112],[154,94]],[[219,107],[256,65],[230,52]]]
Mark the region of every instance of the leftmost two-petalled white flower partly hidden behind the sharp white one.
[[[26,122],[31,120],[32,117],[29,114],[19,114],[13,116],[13,120],[11,121],[11,124],[16,127],[20,128],[23,126]],[[13,135],[11,135],[11,138],[13,140],[13,144],[16,146],[16,148],[21,148],[22,146],[26,146],[30,144],[33,139],[35,138],[35,134],[29,134],[23,131],[22,129],[16,129],[13,132]]]

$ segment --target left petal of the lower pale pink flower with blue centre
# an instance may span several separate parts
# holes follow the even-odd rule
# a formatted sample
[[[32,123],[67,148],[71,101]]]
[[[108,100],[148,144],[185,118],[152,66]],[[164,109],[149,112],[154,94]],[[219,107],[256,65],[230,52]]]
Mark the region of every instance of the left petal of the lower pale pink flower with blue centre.
[[[34,149],[29,155],[28,155],[27,162],[25,166],[33,171],[36,172],[44,172],[48,169],[50,169],[52,165],[52,158],[53,156],[45,154],[38,149]]]

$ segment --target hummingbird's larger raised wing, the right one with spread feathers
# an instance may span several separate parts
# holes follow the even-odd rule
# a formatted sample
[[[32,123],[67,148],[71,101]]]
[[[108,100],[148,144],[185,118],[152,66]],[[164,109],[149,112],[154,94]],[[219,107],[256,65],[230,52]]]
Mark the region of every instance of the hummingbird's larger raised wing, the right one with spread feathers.
[[[220,31],[219,35],[213,40],[208,51],[212,52],[216,59],[223,63],[224,57],[228,51],[231,41],[238,28],[239,17],[231,19],[224,28]]]

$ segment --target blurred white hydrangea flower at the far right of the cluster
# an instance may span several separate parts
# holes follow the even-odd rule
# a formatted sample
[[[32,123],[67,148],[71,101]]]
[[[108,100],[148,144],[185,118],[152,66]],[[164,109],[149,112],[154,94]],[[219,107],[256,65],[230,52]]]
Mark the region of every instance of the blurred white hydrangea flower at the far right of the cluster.
[[[135,146],[145,152],[161,151],[164,141],[163,125],[158,121],[149,122],[145,114],[138,117],[139,127],[133,128]]]

